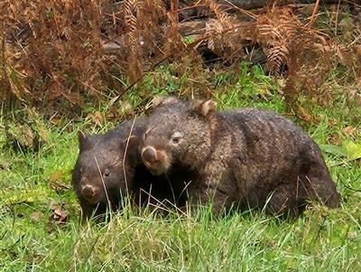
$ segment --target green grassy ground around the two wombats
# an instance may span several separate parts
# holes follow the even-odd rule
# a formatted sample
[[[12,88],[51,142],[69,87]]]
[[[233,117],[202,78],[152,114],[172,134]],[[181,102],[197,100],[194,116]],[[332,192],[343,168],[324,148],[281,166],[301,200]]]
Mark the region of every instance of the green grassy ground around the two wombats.
[[[215,76],[218,108],[284,112],[277,86],[260,70],[241,69],[236,76]],[[167,87],[182,87],[176,83]],[[336,97],[328,107],[304,103],[310,107],[310,123],[294,120],[327,151],[342,207],[329,211],[315,205],[292,221],[249,212],[214,219],[208,211],[162,218],[127,208],[107,224],[80,225],[70,170],[78,155],[77,130],[84,124],[49,127],[49,144],[32,153],[5,148],[0,119],[0,270],[360,271],[361,192],[349,188],[361,189],[361,138],[347,131],[360,131],[361,112],[348,104],[347,88],[333,84],[332,89]],[[133,105],[139,103],[134,93],[127,96]],[[69,211],[63,214],[67,222],[55,222],[59,211]]]

